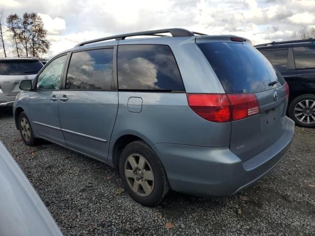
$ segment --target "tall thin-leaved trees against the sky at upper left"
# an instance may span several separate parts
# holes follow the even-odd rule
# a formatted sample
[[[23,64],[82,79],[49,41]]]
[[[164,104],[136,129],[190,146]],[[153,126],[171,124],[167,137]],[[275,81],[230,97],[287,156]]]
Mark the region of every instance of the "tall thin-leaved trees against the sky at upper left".
[[[50,42],[41,17],[35,12],[25,12],[22,16],[10,14],[4,21],[0,11],[0,46],[7,57],[5,37],[9,38],[12,53],[17,57],[35,57],[48,52]]]

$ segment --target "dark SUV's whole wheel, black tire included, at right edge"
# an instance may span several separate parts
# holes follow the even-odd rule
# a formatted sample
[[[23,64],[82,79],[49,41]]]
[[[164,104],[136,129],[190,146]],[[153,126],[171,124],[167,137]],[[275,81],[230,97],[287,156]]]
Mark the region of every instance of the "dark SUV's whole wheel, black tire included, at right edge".
[[[315,94],[304,94],[294,98],[289,105],[288,114],[289,117],[294,120],[296,125],[306,128],[314,128]]]

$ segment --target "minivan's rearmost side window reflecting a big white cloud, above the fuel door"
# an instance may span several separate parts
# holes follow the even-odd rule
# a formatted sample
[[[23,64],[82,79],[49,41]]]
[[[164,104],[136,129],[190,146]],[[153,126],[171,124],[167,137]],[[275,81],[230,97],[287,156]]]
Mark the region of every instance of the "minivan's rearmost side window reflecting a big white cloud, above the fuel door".
[[[185,90],[171,49],[166,45],[120,45],[119,89]]]

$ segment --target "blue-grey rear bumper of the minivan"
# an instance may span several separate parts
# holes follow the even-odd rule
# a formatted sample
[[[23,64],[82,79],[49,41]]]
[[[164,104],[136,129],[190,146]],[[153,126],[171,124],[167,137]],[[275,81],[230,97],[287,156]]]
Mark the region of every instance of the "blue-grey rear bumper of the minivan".
[[[242,162],[228,147],[156,144],[171,188],[198,196],[230,196],[251,186],[284,157],[294,134],[294,122],[286,118],[283,135],[269,148]]]

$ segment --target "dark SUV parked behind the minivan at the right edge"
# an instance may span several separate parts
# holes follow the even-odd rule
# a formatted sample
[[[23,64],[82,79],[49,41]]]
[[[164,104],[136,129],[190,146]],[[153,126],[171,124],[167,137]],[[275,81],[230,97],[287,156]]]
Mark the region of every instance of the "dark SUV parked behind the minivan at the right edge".
[[[255,46],[284,76],[290,87],[288,115],[295,124],[315,127],[315,39]]]

